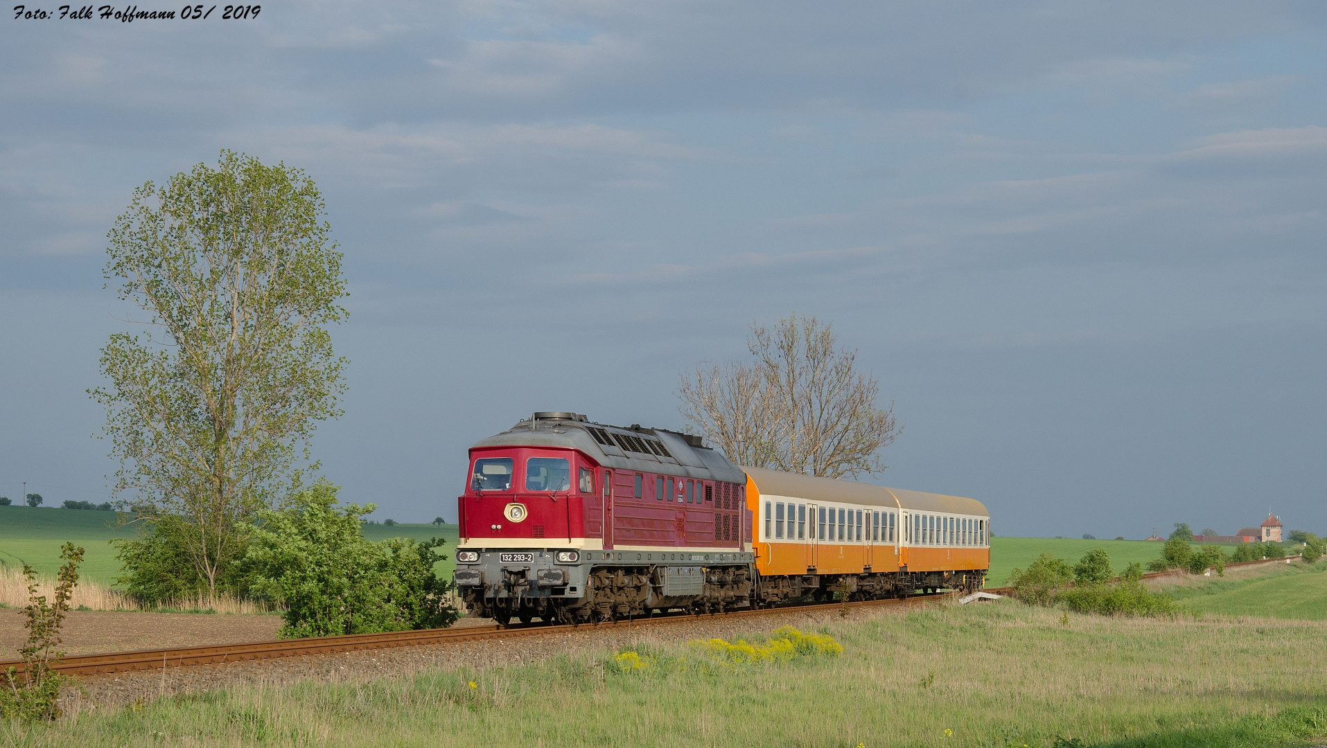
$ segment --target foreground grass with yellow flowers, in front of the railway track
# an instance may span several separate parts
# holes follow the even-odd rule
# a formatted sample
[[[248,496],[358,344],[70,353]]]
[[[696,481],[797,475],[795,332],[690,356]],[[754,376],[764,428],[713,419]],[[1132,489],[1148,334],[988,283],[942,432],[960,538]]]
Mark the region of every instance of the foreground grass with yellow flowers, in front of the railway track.
[[[877,613],[825,631],[840,656],[714,664],[652,639],[640,649],[653,663],[630,672],[587,647],[486,670],[169,698],[21,735],[11,727],[4,741],[1048,748],[1063,737],[1263,748],[1327,735],[1322,622],[1066,621],[1001,601]]]

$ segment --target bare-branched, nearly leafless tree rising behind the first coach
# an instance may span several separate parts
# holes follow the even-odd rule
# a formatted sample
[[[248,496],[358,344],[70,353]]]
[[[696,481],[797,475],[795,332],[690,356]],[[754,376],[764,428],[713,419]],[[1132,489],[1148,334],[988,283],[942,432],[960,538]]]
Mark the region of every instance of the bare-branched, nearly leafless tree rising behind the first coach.
[[[751,325],[754,361],[701,363],[682,375],[683,418],[730,459],[825,477],[885,469],[880,450],[902,427],[881,410],[874,377],[855,370],[856,351],[835,347],[829,325],[796,314],[774,329]]]

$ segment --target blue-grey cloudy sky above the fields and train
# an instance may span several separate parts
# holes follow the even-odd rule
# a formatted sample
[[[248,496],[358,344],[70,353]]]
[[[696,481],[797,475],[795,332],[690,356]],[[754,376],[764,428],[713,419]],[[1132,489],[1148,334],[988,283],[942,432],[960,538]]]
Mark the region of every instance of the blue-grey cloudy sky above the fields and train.
[[[532,410],[681,427],[678,374],[796,312],[905,423],[872,480],[979,499],[998,533],[1269,508],[1327,532],[1324,25],[1314,3],[7,17],[0,493],[105,497],[105,233],[134,187],[234,149],[326,198],[350,390],[313,448],[380,519],[453,517],[466,448]]]

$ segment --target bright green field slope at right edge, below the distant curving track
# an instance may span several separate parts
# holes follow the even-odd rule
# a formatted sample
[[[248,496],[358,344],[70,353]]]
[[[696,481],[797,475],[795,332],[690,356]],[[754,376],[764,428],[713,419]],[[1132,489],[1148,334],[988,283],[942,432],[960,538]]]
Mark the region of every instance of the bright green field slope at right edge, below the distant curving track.
[[[1277,564],[1259,572],[1238,580],[1212,577],[1165,592],[1204,613],[1327,621],[1327,561]]]

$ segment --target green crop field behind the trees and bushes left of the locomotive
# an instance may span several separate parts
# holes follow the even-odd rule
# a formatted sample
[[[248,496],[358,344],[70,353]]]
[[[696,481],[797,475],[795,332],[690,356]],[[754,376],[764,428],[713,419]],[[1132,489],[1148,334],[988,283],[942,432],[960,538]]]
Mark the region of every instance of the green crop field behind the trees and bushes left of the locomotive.
[[[115,512],[56,509],[44,507],[0,507],[0,565],[32,566],[37,573],[54,577],[60,569],[60,546],[73,542],[84,548],[82,576],[102,585],[111,585],[119,576],[119,562],[110,540],[134,537],[134,525],[109,527]],[[397,524],[364,525],[364,536],[378,541],[387,537],[429,540],[443,537],[447,561],[437,566],[438,574],[451,578],[455,568],[451,548],[456,545],[456,525]]]

